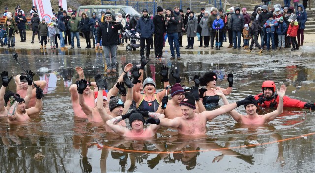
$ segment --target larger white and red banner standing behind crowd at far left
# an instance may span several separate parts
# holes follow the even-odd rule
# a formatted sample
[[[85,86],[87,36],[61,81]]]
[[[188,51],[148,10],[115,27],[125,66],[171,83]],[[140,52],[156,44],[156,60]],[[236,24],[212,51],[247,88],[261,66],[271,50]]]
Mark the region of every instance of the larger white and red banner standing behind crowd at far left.
[[[50,0],[36,0],[36,7],[40,21],[45,19],[46,23],[50,22],[53,16]]]

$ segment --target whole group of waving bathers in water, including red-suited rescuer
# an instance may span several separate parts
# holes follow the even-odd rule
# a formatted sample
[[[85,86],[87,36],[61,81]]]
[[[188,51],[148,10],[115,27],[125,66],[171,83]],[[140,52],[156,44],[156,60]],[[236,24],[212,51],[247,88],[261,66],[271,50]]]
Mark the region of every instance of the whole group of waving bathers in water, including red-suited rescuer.
[[[127,64],[117,83],[109,91],[105,76],[97,74],[95,82],[90,82],[85,79],[83,69],[76,67],[79,81],[72,84],[69,89],[75,117],[86,118],[89,122],[104,123],[106,132],[124,137],[146,138],[155,136],[161,126],[175,128],[179,134],[204,135],[207,121],[225,113],[229,113],[240,124],[263,125],[280,115],[284,107],[315,109],[314,103],[285,96],[285,85],[281,85],[278,90],[273,81],[263,82],[261,94],[250,95],[243,100],[229,103],[225,95],[232,92],[233,74],[227,76],[229,85],[226,89],[216,86],[217,75],[211,71],[202,77],[194,76],[195,85],[187,87],[180,84],[179,71],[171,70],[169,75],[167,66],[161,66],[159,73],[165,89],[156,93],[155,81],[150,77],[143,80],[148,60],[142,57],[140,61],[140,67],[137,67],[137,64]],[[46,82],[35,81],[38,87],[34,87],[30,79],[34,73],[32,71],[27,73],[28,75],[15,77],[17,93],[6,92],[12,77],[9,77],[7,71],[1,73],[0,116],[7,116],[9,123],[27,121],[29,116],[42,110],[41,88],[46,86]],[[169,76],[176,80],[171,87]],[[94,86],[95,89],[92,90],[90,86]],[[167,96],[169,92],[170,100]],[[218,106],[220,97],[224,106],[206,111],[206,108]],[[247,115],[234,110],[241,105],[244,105]],[[258,115],[258,107],[276,110]],[[125,119],[129,119],[131,129],[127,128]],[[150,125],[144,128],[145,124]]]

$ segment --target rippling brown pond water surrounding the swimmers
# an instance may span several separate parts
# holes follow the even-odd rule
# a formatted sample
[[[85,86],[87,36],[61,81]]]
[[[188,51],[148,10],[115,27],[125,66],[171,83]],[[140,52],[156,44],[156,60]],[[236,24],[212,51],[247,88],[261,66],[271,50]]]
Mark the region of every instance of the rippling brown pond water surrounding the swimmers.
[[[0,49],[0,52],[1,70],[15,75],[23,72],[10,51]],[[28,123],[8,125],[5,119],[0,119],[0,160],[6,163],[1,164],[1,172],[309,172],[313,169],[315,140],[313,135],[305,134],[315,130],[315,113],[309,110],[286,108],[270,125],[257,128],[240,126],[230,115],[220,115],[207,123],[206,135],[198,138],[161,128],[152,139],[124,139],[105,133],[103,124],[74,119],[69,87],[78,79],[75,67],[82,66],[86,78],[94,81],[95,74],[105,74],[102,53],[92,50],[19,50],[18,53],[27,70],[38,70],[34,80],[47,81],[47,93],[43,111]],[[118,54],[119,73],[127,63],[139,63],[137,55]],[[277,86],[286,84],[291,98],[315,101],[313,58],[272,56],[248,59],[229,52],[193,52],[183,54],[181,61],[153,59],[146,66],[145,76],[153,77],[157,89],[162,89],[158,74],[162,64],[170,70],[177,68],[182,84],[187,86],[194,85],[194,75],[215,70],[220,76],[217,84],[223,88],[228,86],[226,75],[234,74],[233,91],[227,97],[231,102],[260,93],[266,79],[274,80]],[[47,71],[40,71],[41,67]],[[119,73],[106,74],[109,87],[117,81]],[[170,83],[174,84],[175,79],[171,77]],[[15,84],[11,82],[7,89],[14,92]],[[223,105],[222,101],[219,105]],[[243,108],[237,111],[245,113]],[[261,109],[259,114],[270,111]],[[298,138],[289,139],[292,137]],[[35,160],[37,153],[45,158]]]

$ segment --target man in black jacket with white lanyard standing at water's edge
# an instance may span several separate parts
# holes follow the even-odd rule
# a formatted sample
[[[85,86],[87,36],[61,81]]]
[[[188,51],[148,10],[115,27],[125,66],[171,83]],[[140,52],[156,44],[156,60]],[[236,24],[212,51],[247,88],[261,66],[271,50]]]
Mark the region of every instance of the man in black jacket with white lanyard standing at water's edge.
[[[100,40],[102,39],[102,45],[107,65],[107,73],[116,73],[116,51],[118,43],[118,30],[122,29],[122,24],[116,23],[112,18],[111,12],[106,12],[104,16],[104,22],[102,22],[98,29],[96,46],[100,46]],[[152,31],[153,33],[153,31]],[[110,56],[111,55],[111,56]]]

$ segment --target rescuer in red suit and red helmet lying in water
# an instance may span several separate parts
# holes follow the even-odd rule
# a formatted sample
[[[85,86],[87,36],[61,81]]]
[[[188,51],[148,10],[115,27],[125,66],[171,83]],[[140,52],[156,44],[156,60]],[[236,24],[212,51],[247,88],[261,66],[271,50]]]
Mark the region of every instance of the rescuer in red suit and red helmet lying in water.
[[[259,106],[277,108],[279,104],[279,96],[276,93],[276,85],[274,81],[264,81],[262,83],[262,92],[255,95],[255,99]],[[308,108],[315,110],[315,105],[312,102],[302,102],[301,100],[291,99],[284,96],[284,107],[290,108]]]

